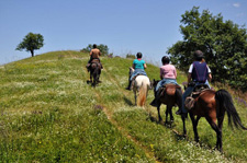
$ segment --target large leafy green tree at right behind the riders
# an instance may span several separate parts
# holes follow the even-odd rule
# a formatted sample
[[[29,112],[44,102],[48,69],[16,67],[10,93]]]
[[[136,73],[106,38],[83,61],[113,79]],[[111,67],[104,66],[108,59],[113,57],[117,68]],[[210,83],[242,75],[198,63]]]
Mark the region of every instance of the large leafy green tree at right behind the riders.
[[[205,55],[214,81],[227,82],[232,86],[247,90],[247,32],[232,21],[223,21],[221,14],[209,10],[199,12],[193,7],[181,15],[180,31],[183,40],[168,48],[171,61],[181,70],[188,70],[193,61],[193,51]]]

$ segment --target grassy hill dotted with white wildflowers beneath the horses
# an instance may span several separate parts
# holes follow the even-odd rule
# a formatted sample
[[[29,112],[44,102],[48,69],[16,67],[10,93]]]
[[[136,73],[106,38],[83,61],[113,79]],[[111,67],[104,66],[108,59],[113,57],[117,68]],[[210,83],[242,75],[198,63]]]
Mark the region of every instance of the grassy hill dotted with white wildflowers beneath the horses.
[[[197,144],[190,119],[188,139],[175,132],[182,133],[179,116],[172,129],[154,120],[153,91],[145,108],[134,106],[133,92],[124,89],[132,60],[102,57],[102,83],[93,89],[86,82],[88,58],[55,51],[0,67],[0,162],[247,162],[247,132],[233,131],[227,117],[220,154],[203,118]],[[158,79],[159,69],[147,66],[148,77]],[[235,105],[247,126],[246,106]]]

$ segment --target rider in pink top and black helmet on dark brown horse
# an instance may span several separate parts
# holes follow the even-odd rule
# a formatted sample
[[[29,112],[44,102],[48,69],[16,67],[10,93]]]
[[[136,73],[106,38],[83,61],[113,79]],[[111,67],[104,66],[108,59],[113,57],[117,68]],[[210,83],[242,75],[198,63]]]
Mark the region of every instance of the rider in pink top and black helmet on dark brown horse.
[[[167,56],[164,56],[162,59],[162,66],[160,67],[160,81],[155,88],[155,98],[150,103],[151,106],[157,106],[157,100],[158,97],[158,90],[161,88],[164,84],[172,83],[172,84],[178,84],[176,79],[177,79],[177,71],[173,65],[170,65],[170,59]]]

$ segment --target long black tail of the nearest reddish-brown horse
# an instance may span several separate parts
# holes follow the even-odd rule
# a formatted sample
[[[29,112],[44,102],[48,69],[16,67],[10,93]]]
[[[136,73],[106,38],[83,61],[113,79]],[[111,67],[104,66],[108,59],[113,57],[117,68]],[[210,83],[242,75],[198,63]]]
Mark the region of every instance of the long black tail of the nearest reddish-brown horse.
[[[224,108],[228,116],[228,125],[233,128],[233,124],[236,128],[240,127],[244,130],[247,130],[242,124],[240,117],[234,106],[233,98],[231,94],[225,90],[218,90],[215,93],[215,100],[218,102],[220,108]]]

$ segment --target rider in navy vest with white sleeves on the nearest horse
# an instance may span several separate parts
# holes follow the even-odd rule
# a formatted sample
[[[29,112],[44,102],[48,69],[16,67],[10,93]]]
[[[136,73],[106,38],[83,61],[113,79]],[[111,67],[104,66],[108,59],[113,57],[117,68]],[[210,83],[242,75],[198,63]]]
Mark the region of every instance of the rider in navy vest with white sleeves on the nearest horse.
[[[206,65],[205,60],[203,59],[204,55],[201,50],[194,51],[194,61],[190,66],[189,74],[188,74],[188,86],[186,92],[182,95],[182,109],[179,109],[176,114],[187,114],[188,110],[184,108],[184,102],[187,96],[189,96],[194,86],[199,84],[206,84],[210,88],[209,81],[211,81],[211,69]]]

